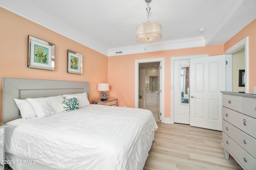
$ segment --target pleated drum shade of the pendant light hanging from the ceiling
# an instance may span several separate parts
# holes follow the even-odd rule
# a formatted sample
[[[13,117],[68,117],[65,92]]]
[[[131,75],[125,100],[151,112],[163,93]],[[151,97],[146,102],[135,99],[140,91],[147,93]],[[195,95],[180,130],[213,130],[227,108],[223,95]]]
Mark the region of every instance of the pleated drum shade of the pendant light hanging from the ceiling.
[[[157,22],[145,22],[136,27],[138,43],[154,43],[162,39],[162,25]]]

